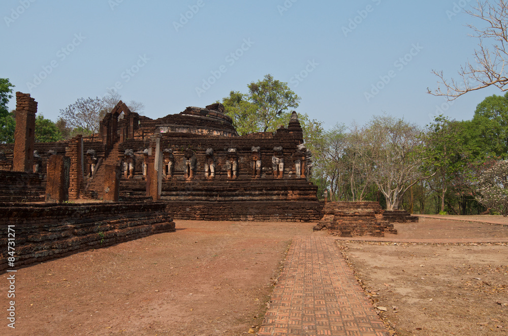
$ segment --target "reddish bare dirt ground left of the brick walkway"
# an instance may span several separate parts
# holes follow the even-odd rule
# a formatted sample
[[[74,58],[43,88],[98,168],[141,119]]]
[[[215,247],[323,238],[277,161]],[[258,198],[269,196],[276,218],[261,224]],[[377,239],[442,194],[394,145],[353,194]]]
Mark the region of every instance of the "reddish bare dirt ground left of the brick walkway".
[[[0,335],[247,334],[291,238],[326,234],[313,225],[176,221],[176,232],[21,268],[14,330],[0,276]]]

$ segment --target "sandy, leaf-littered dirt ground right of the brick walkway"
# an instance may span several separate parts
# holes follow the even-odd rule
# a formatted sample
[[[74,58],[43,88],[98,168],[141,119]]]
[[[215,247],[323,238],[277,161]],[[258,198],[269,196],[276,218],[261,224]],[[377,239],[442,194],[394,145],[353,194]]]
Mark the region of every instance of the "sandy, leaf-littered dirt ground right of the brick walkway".
[[[428,218],[395,227],[387,237],[508,237],[508,227]],[[338,244],[398,335],[508,334],[508,244]]]

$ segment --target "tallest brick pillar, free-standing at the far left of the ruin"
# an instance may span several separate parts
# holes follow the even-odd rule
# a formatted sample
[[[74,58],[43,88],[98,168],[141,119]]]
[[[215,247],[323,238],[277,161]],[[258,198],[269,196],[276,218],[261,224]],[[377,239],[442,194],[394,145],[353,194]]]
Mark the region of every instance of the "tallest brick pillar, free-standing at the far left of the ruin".
[[[34,169],[35,114],[37,102],[27,93],[16,92],[16,130],[14,132],[15,172]]]

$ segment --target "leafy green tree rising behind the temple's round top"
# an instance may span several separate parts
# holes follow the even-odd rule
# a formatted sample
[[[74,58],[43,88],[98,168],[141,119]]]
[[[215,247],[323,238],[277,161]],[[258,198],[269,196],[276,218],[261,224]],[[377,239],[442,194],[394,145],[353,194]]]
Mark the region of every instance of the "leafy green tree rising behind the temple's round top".
[[[223,98],[226,114],[233,118],[240,135],[274,131],[278,126],[288,124],[289,109],[296,109],[300,102],[300,97],[288,83],[265,75],[263,80],[251,82],[247,87],[246,94],[231,91],[229,97]]]

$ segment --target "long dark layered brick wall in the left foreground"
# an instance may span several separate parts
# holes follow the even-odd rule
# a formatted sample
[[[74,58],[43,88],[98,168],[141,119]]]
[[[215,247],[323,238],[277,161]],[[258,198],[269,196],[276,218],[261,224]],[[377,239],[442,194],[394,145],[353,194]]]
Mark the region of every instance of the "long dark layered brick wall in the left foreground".
[[[8,268],[8,225],[15,225],[18,267],[175,231],[166,206],[164,202],[51,206],[0,203],[0,272]]]

